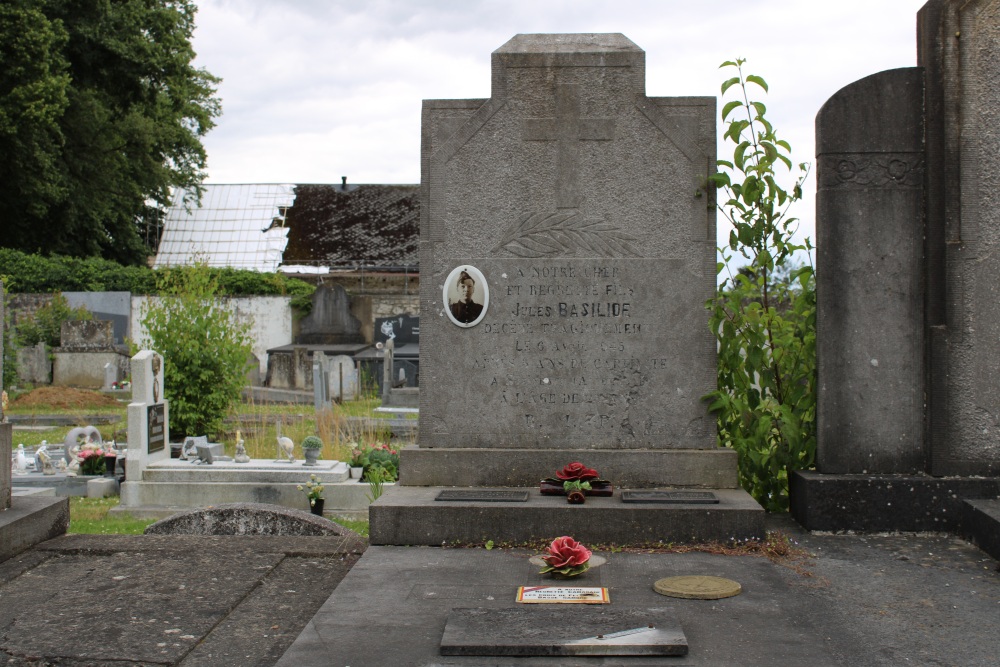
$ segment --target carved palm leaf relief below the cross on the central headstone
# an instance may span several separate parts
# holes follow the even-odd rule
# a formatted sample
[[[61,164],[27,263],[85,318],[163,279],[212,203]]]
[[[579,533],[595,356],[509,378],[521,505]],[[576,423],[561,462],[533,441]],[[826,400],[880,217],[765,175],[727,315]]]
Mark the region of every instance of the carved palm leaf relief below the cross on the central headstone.
[[[641,257],[632,246],[637,239],[603,220],[579,213],[525,213],[507,230],[493,251],[505,249],[518,257],[565,257],[585,252],[599,257]]]

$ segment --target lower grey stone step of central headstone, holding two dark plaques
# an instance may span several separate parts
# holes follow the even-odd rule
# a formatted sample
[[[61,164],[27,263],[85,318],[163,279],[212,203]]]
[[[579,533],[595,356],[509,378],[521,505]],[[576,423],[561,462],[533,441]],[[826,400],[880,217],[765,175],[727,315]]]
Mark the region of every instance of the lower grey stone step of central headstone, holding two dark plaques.
[[[657,544],[761,539],[765,512],[742,489],[712,489],[714,505],[623,503],[528,491],[527,502],[439,501],[445,487],[395,486],[369,507],[369,540],[380,545],[524,543],[572,535],[587,544]],[[448,490],[456,490],[448,487]],[[465,489],[482,491],[484,489]]]

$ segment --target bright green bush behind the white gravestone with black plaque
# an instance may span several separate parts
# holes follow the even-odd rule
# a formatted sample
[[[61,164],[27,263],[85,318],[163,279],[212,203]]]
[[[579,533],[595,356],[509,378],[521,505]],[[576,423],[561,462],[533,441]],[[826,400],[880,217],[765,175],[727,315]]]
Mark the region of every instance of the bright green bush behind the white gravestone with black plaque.
[[[217,299],[218,282],[204,264],[160,276],[165,298],[147,301],[140,344],[163,355],[163,394],[173,435],[215,435],[239,400],[250,358],[250,323]]]

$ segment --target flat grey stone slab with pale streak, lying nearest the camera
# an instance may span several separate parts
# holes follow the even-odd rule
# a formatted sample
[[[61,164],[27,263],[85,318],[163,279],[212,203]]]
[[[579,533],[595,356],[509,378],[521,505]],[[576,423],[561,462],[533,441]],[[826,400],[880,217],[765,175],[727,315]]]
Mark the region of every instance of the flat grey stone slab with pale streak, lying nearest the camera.
[[[669,609],[452,609],[441,655],[687,655]]]

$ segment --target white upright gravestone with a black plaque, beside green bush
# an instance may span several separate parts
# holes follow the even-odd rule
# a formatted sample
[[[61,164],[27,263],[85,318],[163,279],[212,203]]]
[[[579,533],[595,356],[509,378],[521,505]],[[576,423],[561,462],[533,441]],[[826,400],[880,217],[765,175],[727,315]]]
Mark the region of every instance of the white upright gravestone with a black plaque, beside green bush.
[[[128,456],[122,504],[130,483],[141,482],[150,463],[170,458],[170,412],[163,398],[163,357],[142,350],[132,357],[132,402],[128,406]],[[133,503],[134,504],[134,503]]]

